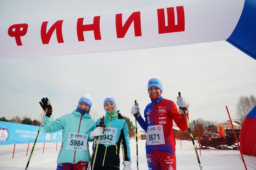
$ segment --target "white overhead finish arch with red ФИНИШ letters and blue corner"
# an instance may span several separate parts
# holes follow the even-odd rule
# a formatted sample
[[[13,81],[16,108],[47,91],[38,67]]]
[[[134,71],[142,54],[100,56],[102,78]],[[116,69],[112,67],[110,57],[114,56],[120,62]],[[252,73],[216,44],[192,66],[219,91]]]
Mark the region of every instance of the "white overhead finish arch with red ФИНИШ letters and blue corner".
[[[256,59],[255,0],[163,6],[0,24],[0,57],[67,55],[226,40]]]

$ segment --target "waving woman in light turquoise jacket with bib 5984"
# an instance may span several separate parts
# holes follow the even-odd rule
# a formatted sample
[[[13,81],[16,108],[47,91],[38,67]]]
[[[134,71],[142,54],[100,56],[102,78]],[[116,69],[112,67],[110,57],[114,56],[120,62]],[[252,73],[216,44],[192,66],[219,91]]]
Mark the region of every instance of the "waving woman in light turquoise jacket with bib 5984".
[[[52,106],[47,98],[40,102],[47,113],[43,121],[43,129],[46,133],[57,132],[62,129],[62,144],[57,158],[57,170],[87,170],[90,161],[88,142],[90,132],[93,130],[95,120],[89,115],[92,107],[90,94],[83,95],[78,107],[54,121]]]

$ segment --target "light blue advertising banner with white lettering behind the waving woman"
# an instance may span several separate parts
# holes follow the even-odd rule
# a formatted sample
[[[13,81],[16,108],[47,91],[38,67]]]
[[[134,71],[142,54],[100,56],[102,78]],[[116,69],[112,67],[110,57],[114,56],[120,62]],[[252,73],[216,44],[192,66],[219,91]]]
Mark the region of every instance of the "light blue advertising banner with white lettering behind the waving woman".
[[[39,126],[0,121],[0,145],[34,143]],[[62,130],[45,133],[40,130],[37,142],[61,142]]]

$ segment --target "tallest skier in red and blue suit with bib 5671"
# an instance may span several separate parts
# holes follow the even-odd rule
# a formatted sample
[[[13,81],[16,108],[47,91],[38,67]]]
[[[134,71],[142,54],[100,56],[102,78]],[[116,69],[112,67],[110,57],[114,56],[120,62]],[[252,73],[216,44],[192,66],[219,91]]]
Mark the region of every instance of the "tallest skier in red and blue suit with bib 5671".
[[[148,170],[176,170],[173,120],[181,130],[188,129],[183,109],[188,116],[189,103],[182,97],[177,98],[178,108],[173,101],[162,98],[162,90],[159,79],[152,78],[148,81],[151,103],[144,110],[145,120],[136,104],[131,109],[142,129],[147,132]]]

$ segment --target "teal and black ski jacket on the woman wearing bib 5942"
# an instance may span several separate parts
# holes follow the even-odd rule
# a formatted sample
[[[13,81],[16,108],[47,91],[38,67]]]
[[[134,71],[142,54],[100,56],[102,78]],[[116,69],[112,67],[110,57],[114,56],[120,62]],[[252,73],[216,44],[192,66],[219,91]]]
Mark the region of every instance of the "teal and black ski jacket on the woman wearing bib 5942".
[[[101,119],[94,124],[94,128],[99,125]],[[96,152],[95,164],[100,166],[120,166],[120,144],[123,145],[123,157],[125,161],[131,162],[130,157],[130,135],[126,120],[118,119],[117,114],[110,117],[107,113],[104,117],[105,130],[101,135]],[[114,140],[113,140],[114,139]],[[95,155],[95,151],[94,151]],[[92,159],[94,160],[94,155]]]

